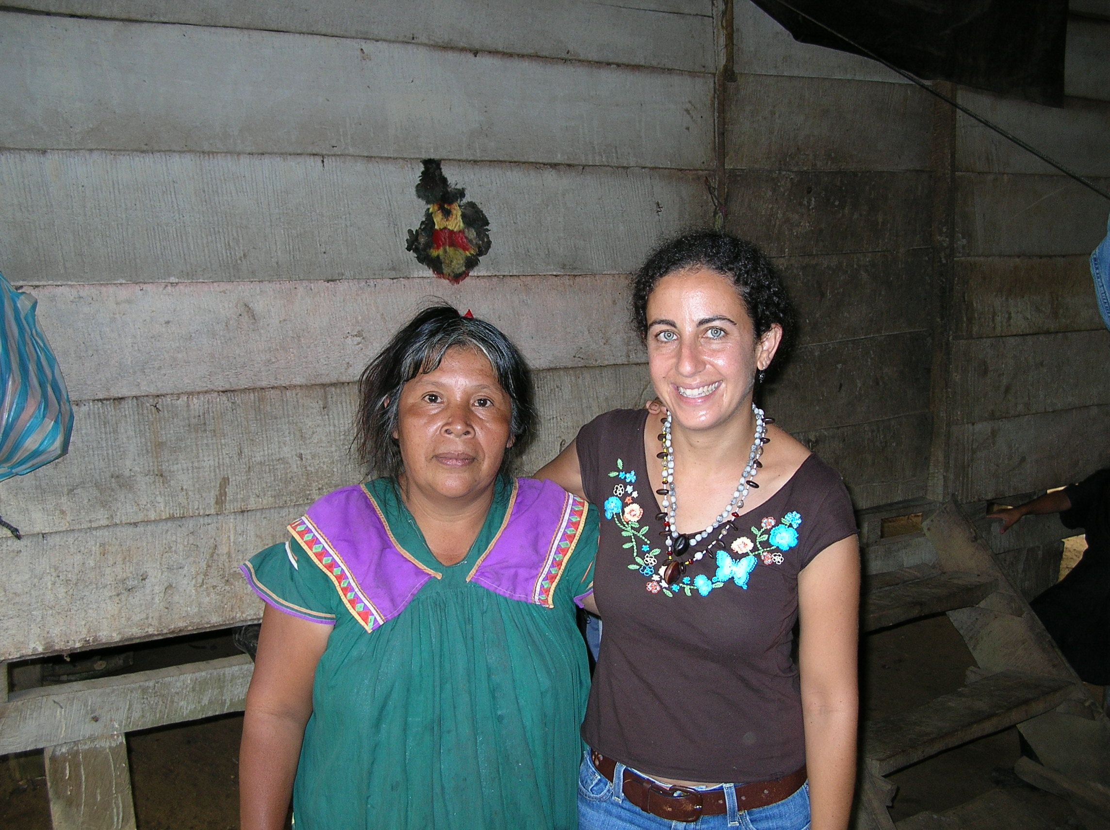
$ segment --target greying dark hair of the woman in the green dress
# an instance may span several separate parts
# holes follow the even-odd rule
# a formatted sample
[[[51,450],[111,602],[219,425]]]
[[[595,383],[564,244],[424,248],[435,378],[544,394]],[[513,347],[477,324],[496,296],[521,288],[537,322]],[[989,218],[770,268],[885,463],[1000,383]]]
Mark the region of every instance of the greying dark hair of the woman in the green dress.
[[[532,374],[524,357],[496,326],[464,317],[450,305],[433,305],[393,335],[359,378],[354,449],[379,475],[396,478],[403,470],[401,447],[393,437],[401,391],[417,374],[434,372],[446,351],[454,346],[474,348],[488,357],[497,382],[508,395],[512,404],[508,428],[514,442],[502,459],[502,472],[527,447],[536,409]]]

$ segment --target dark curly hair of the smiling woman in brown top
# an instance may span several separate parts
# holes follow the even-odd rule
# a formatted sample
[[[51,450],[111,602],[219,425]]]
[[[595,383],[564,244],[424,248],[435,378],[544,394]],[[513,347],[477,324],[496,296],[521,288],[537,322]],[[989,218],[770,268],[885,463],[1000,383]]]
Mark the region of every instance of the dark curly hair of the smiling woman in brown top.
[[[647,298],[659,280],[692,267],[706,267],[731,280],[747,306],[756,338],[778,324],[783,346],[787,345],[794,333],[794,307],[778,273],[750,242],[716,231],[694,231],[665,242],[633,276],[633,324],[640,337],[647,337]]]

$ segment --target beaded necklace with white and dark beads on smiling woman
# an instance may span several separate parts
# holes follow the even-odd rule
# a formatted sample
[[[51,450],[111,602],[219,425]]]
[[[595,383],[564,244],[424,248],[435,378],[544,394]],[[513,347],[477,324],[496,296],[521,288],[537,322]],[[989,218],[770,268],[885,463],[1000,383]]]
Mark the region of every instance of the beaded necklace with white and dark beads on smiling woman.
[[[663,522],[662,535],[666,537],[667,541],[667,566],[663,571],[663,578],[668,584],[674,583],[678,576],[685,574],[687,565],[705,556],[705,551],[702,550],[690,553],[695,545],[708,537],[718,527],[722,528],[720,533],[709,544],[709,547],[719,543],[730,529],[736,529],[734,520],[740,516],[739,510],[744,507],[749,488],[755,487],[758,489],[759,487],[753,479],[763,466],[759,462],[759,456],[763,455],[764,444],[770,441],[766,434],[766,425],[774,423],[774,418],[765,418],[764,411],[754,403],[751,404],[751,412],[756,416],[756,434],[755,439],[751,442],[751,449],[748,453],[748,463],[745,465],[744,473],[740,476],[740,483],[736,485],[731,499],[729,499],[725,509],[717,514],[717,518],[693,537],[688,534],[678,533],[676,529],[675,514],[678,510],[678,499],[675,494],[675,455],[670,444],[670,413],[668,412],[667,417],[663,418],[663,432],[659,433],[663,452],[656,456],[663,459],[663,488],[656,490],[656,494],[663,496],[663,513],[658,514],[656,519]],[[686,556],[687,553],[690,554],[688,557]]]

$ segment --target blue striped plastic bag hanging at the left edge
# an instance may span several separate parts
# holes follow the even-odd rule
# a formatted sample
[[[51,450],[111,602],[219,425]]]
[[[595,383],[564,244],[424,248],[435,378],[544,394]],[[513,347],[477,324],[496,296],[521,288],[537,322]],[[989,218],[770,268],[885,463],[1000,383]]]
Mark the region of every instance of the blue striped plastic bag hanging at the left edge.
[[[34,305],[0,274],[0,482],[65,455],[73,429],[69,393]]]

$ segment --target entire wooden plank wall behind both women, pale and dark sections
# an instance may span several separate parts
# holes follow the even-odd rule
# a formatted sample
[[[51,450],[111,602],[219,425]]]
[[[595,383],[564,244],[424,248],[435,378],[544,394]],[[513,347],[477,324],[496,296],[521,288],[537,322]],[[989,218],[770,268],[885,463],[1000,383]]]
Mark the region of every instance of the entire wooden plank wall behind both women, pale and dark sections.
[[[636,405],[624,275],[712,217],[714,9],[9,2],[0,271],[39,298],[77,426],[67,458],[0,484],[27,534],[0,538],[0,659],[258,616],[233,566],[360,477],[353,382],[430,297],[537,370],[524,469]],[[1076,2],[1062,109],[959,92],[1103,183],[1104,9]],[[734,34],[726,226],[775,259],[800,318],[770,414],[860,509],[1110,460],[1086,273],[1106,203],[747,0]],[[458,287],[404,251],[428,155],[492,221]]]

